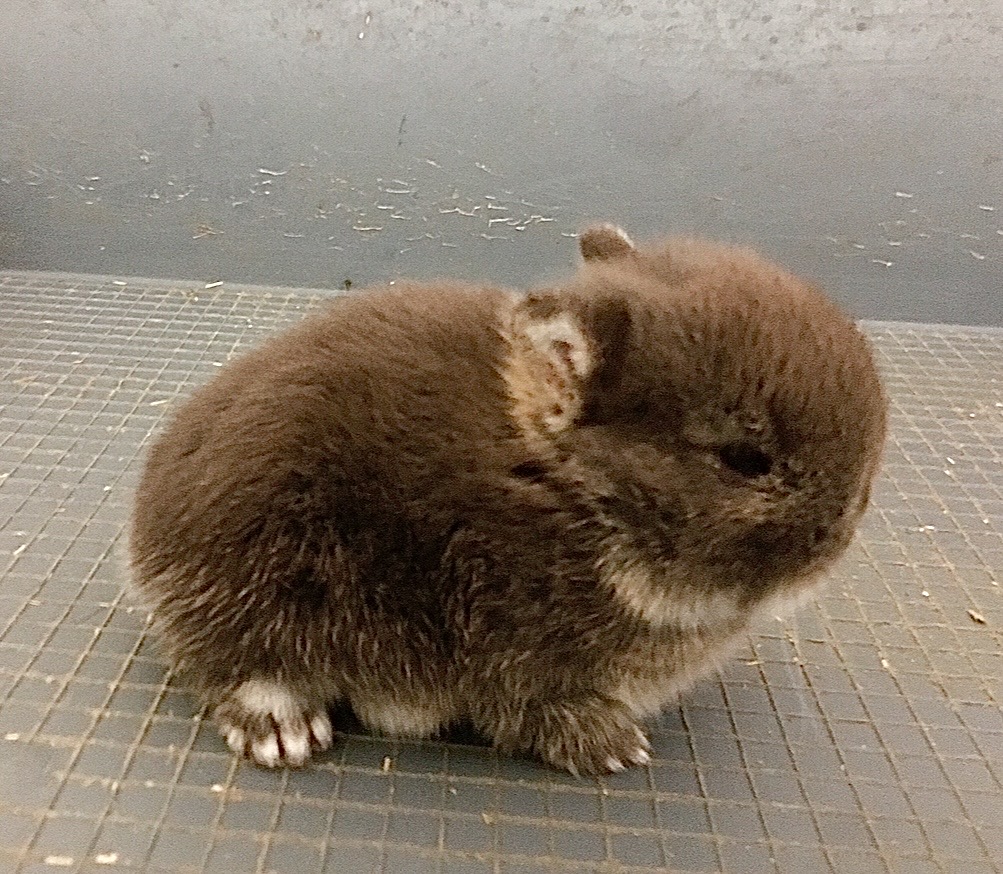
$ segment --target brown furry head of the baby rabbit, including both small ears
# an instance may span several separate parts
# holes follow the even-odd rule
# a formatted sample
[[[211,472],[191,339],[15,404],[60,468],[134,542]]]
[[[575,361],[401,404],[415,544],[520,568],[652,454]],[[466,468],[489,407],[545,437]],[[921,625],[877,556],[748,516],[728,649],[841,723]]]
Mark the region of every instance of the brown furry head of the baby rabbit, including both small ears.
[[[870,346],[752,252],[581,237],[571,283],[512,314],[514,413],[629,561],[747,606],[849,544],[884,444]]]

